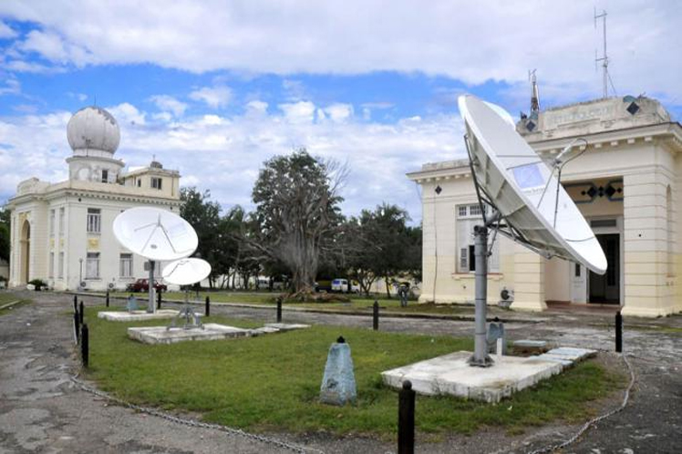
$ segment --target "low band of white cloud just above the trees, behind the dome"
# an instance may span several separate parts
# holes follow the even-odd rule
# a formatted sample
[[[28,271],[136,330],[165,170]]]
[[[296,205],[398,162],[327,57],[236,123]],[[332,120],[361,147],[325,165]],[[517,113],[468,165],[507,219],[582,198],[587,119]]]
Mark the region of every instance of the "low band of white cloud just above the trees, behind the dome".
[[[210,189],[214,200],[230,206],[251,205],[251,191],[263,161],[305,146],[311,154],[347,162],[351,169],[343,191],[344,212],[354,214],[382,201],[408,209],[419,220],[421,204],[405,173],[425,161],[463,157],[459,117],[405,119],[393,125],[356,121],[315,121],[328,109],[310,102],[284,106],[284,114],[267,115],[264,103],[252,115],[203,115],[172,123],[144,123],[153,117],[130,104],[108,110],[119,120],[121,145],[116,157],[130,166],[147,164],[156,154],[167,169],[181,171],[183,185]],[[18,181],[37,176],[67,178],[71,154],[66,140],[70,113],[19,116],[0,120],[0,201],[12,195]],[[135,121],[132,124],[130,121]],[[3,165],[11,162],[11,165]],[[228,177],[229,175],[229,177]]]

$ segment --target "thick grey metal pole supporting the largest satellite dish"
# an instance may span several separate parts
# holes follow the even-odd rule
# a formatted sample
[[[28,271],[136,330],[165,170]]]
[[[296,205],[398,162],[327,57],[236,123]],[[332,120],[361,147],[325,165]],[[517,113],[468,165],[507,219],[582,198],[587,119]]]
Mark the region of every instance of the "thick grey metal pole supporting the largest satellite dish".
[[[474,256],[476,258],[476,317],[474,352],[469,360],[470,366],[492,366],[488,356],[488,332],[486,329],[486,311],[488,309],[488,228],[477,225],[473,228]]]

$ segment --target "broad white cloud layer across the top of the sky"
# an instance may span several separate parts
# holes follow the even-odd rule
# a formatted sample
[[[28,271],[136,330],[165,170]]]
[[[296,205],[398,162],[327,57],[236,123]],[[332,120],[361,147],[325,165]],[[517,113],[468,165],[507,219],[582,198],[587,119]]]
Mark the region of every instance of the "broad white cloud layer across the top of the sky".
[[[553,2],[382,3],[108,2],[60,4],[5,0],[0,16],[37,24],[23,52],[57,63],[152,63],[194,72],[363,74],[422,71],[470,84],[525,83],[538,68],[542,86],[599,94],[592,4]],[[597,0],[608,10],[611,73],[619,93],[682,91],[682,58],[662,49],[682,41],[682,4]],[[5,33],[7,33],[5,31]],[[652,70],[656,68],[656,70]],[[289,81],[290,101],[306,98]],[[549,92],[548,92],[549,93]],[[307,97],[309,98],[309,97]]]

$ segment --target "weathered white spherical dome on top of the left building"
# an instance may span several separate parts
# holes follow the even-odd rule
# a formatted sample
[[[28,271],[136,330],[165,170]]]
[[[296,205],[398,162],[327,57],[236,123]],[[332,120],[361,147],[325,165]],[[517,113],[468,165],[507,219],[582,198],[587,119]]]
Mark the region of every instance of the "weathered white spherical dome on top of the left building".
[[[119,148],[119,124],[103,108],[81,108],[68,120],[67,138],[71,150],[114,153]]]

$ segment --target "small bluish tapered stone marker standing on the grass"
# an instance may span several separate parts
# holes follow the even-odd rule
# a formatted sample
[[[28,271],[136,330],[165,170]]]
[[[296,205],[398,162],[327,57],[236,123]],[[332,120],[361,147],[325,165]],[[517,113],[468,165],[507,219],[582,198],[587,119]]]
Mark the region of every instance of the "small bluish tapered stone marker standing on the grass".
[[[320,401],[331,405],[346,405],[357,397],[356,377],[353,373],[353,358],[346,339],[340,336],[329,348],[326,357],[325,377],[320,387]]]

